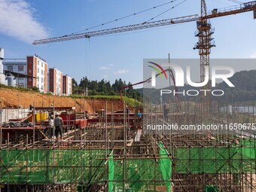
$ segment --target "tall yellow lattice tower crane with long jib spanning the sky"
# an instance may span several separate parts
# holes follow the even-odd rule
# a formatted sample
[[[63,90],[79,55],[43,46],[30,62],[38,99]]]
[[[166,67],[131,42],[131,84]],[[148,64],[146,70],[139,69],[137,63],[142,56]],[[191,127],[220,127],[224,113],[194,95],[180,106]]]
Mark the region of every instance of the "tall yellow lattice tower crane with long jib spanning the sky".
[[[198,14],[188,15],[184,17],[175,17],[167,20],[157,20],[152,22],[139,23],[129,26],[120,26],[111,29],[102,29],[93,32],[83,32],[83,33],[75,33],[71,35],[64,35],[55,38],[45,38],[41,40],[35,40],[33,44],[47,44],[58,41],[69,41],[79,38],[91,38],[99,35],[109,35],[120,32],[129,32],[135,31],[139,29],[149,29],[157,26],[168,26],[174,25],[178,23],[187,23],[191,21],[197,21],[197,32],[195,35],[199,38],[197,44],[195,44],[194,49],[199,50],[200,54],[200,81],[203,82],[206,78],[206,67],[209,67],[209,55],[211,52],[211,48],[215,47],[214,42],[212,41],[212,34],[214,33],[214,29],[212,29],[211,24],[208,22],[209,19],[215,17],[224,17],[231,14],[241,14],[244,12],[253,11],[254,19],[256,19],[256,1],[253,2],[245,2],[240,5],[234,5],[228,8],[220,8],[213,9],[210,13],[207,13],[206,1],[201,0],[201,13],[200,16]],[[209,90],[209,84],[206,84],[205,89]],[[204,103],[205,107],[202,108],[210,108],[209,96],[203,96],[201,102]],[[208,116],[209,111],[204,111],[202,114]]]

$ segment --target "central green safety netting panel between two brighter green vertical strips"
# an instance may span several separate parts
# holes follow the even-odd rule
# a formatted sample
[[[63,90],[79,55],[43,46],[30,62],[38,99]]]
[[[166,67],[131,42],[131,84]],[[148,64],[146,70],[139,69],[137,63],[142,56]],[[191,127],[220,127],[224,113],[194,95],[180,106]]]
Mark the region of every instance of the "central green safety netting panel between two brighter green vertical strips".
[[[166,191],[160,163],[154,159],[114,160],[111,166],[114,166],[114,178],[113,182],[108,181],[112,184],[108,191],[156,191],[157,187]]]

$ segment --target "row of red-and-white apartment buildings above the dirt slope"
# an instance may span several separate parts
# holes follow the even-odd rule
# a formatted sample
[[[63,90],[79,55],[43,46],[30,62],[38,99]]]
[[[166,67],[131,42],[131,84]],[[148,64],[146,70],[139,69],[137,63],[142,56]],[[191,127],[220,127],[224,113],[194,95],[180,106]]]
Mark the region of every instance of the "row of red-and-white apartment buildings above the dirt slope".
[[[2,56],[3,57],[3,56]],[[1,59],[1,58],[0,58]],[[42,93],[52,92],[56,96],[72,94],[72,78],[69,75],[62,77],[62,72],[56,68],[47,71],[47,62],[38,55],[26,56],[26,59],[3,59],[6,71],[15,76],[15,87],[38,87]],[[13,77],[14,77],[13,76]],[[5,75],[3,75],[3,83]]]

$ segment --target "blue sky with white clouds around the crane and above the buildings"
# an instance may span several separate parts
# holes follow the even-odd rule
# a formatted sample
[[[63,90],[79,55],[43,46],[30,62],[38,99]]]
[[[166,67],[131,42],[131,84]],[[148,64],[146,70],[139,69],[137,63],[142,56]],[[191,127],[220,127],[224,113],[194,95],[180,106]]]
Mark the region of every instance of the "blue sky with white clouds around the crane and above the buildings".
[[[206,0],[206,5],[211,11],[238,5],[236,2]],[[157,5],[163,6],[154,8]],[[154,9],[145,11],[150,8]],[[25,59],[37,54],[46,59],[48,68],[56,67],[78,84],[86,76],[111,83],[121,78],[135,84],[143,80],[143,59],[167,59],[168,53],[171,59],[200,58],[198,50],[193,50],[198,41],[194,36],[196,22],[32,44],[41,38],[144,23],[157,15],[160,16],[154,20],[200,14],[200,0],[0,0],[0,10],[0,47],[5,49],[5,59]],[[135,14],[139,11],[144,12]],[[108,23],[131,14],[135,15]],[[256,58],[256,20],[251,11],[210,22],[215,28],[216,44],[211,58]],[[108,24],[85,30],[102,23]]]

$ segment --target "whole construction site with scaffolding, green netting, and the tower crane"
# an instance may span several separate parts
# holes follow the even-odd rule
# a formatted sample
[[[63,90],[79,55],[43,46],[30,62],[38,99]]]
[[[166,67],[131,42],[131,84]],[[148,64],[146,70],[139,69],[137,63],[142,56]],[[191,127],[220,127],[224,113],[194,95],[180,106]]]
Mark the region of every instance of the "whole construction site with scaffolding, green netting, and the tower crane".
[[[256,2],[208,13],[206,2],[201,0],[200,16],[65,35],[34,44],[197,21],[195,36],[199,41],[194,49],[199,50],[203,82],[209,75],[211,48],[215,47],[209,19],[247,11],[256,18]],[[178,91],[172,70],[159,73],[163,74],[170,79],[169,87]],[[151,81],[148,77],[137,84]],[[120,99],[114,101],[60,103],[56,97],[44,98],[30,106],[23,104],[17,118],[5,115],[4,120],[2,114],[11,105],[8,96],[2,95],[0,192],[256,191],[253,98],[246,104],[206,95],[194,100],[169,96],[165,101],[154,101],[150,93],[144,93],[143,102],[131,107],[122,97],[127,88],[123,87]],[[210,84],[203,89],[211,90]],[[19,99],[21,103],[21,95]],[[49,128],[50,117],[56,115],[63,120],[62,138],[54,138],[55,125],[53,130]]]

